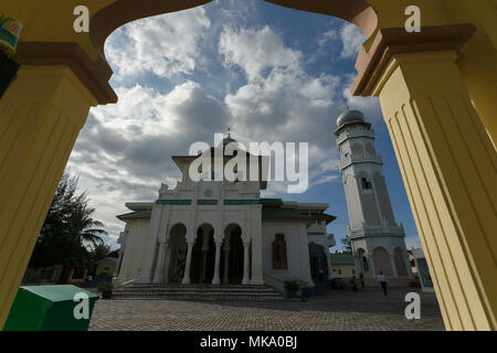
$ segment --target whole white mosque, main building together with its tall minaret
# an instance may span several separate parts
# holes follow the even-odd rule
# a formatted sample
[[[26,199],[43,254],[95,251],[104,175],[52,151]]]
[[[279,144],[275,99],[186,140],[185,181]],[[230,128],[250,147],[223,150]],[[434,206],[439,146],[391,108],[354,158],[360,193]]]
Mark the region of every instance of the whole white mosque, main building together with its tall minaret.
[[[357,110],[342,114],[337,125],[356,271],[374,278],[381,269],[391,279],[409,278],[404,231],[393,216],[374,131]],[[224,149],[233,143],[229,136],[211,150],[221,150],[228,163]],[[193,181],[189,170],[197,158],[172,157],[182,173],[176,188],[162,184],[157,200],[128,202],[130,212],[117,216],[126,223],[118,240],[118,282],[268,285],[282,290],[290,278],[310,286],[331,278],[329,248],[336,243],[327,225],[336,217],[325,213],[327,203],[262,199],[263,179]],[[263,171],[261,156],[258,161]]]

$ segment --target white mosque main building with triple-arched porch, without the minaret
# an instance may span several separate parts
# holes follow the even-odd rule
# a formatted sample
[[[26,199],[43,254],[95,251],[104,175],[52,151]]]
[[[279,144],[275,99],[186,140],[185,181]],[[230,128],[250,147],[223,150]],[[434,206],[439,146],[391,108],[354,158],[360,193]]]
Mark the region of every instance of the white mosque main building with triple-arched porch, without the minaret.
[[[232,142],[229,136],[211,150]],[[182,173],[176,188],[162,184],[157,200],[128,202],[130,212],[117,216],[126,223],[118,240],[118,282],[283,289],[290,278],[310,286],[326,281],[335,245],[327,233],[335,220],[325,213],[328,204],[261,199],[265,181],[193,181],[189,168],[195,159],[172,157]]]

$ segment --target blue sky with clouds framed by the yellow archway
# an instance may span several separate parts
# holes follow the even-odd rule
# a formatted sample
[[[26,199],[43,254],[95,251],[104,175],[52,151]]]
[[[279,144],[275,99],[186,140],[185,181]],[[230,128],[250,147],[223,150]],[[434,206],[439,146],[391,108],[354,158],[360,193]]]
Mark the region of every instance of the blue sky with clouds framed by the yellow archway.
[[[399,165],[377,98],[352,97],[355,61],[364,41],[346,21],[261,0],[219,0],[138,20],[116,30],[105,54],[119,101],[92,108],[68,161],[89,193],[94,218],[116,248],[129,212],[125,203],[155,201],[161,183],[180,179],[171,160],[215,132],[237,141],[309,143],[309,188],[286,192],[271,183],[262,197],[328,203],[340,250],[347,203],[334,131],[350,106],[376,131],[377,152],[408,248],[420,247]]]

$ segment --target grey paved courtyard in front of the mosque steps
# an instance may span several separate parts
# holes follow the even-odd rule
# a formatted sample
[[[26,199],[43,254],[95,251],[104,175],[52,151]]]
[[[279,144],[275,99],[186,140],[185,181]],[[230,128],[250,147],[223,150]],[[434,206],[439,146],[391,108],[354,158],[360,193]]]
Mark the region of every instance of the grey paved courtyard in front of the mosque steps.
[[[405,293],[329,290],[302,301],[98,300],[91,331],[444,330],[435,295],[421,293],[421,319],[404,317]]]

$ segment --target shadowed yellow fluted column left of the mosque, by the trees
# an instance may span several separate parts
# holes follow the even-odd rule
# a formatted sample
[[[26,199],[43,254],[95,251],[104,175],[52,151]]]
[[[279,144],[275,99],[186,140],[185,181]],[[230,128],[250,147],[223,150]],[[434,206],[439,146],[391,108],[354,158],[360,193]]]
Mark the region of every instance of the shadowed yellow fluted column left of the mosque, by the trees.
[[[21,66],[0,100],[0,328],[91,106],[65,66]]]

